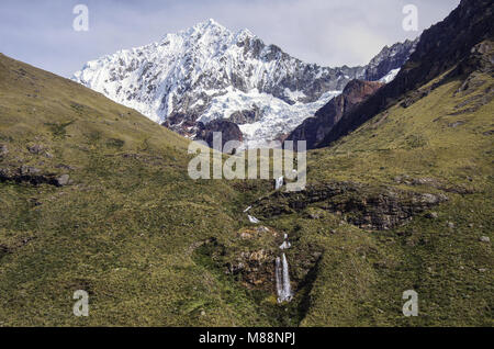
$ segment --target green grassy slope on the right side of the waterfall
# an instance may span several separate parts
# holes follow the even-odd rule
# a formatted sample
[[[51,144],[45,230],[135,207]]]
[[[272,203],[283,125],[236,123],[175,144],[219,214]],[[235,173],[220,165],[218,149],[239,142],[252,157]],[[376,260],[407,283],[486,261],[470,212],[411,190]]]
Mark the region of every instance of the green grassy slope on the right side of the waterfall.
[[[474,74],[474,88],[459,93],[462,82],[448,81],[407,109],[396,104],[333,147],[310,153],[312,184],[356,182],[449,201],[389,230],[362,230],[340,213],[327,214],[332,200],[272,217],[272,226],[297,227],[295,249],[323,251],[301,300],[301,325],[493,325],[494,258],[481,238],[492,241],[494,230],[494,79]],[[323,213],[314,219],[314,212]],[[296,252],[288,255],[296,263]],[[418,293],[418,317],[402,314],[406,290]]]

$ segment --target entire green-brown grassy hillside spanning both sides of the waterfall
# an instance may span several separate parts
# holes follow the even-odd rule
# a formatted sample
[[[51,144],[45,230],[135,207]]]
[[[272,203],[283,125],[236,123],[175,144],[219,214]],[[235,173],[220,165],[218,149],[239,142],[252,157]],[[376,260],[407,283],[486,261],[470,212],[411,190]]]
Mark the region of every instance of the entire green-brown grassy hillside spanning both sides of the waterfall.
[[[0,56],[0,169],[71,181],[0,182],[0,325],[492,326],[481,238],[493,238],[494,79],[475,81],[459,93],[463,81],[448,81],[308,153],[307,191],[284,194],[267,181],[192,181],[184,138]],[[251,203],[266,229],[247,222]],[[391,204],[400,224],[360,224],[390,218],[366,210]],[[279,305],[284,233],[296,293]],[[79,289],[89,317],[72,315]],[[407,318],[411,289],[419,316]]]

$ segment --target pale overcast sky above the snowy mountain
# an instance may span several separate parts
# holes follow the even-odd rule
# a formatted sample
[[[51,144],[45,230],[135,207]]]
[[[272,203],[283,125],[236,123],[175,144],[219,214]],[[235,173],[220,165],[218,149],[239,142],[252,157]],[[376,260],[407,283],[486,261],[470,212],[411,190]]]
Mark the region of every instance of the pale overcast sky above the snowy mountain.
[[[89,8],[89,32],[76,32],[72,9]],[[418,32],[405,32],[405,4],[418,9]],[[0,52],[70,77],[88,60],[142,46],[206,19],[249,29],[267,44],[325,66],[367,64],[384,45],[415,38],[460,0],[1,0]]]

